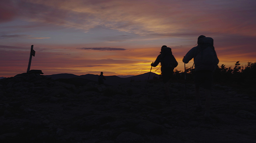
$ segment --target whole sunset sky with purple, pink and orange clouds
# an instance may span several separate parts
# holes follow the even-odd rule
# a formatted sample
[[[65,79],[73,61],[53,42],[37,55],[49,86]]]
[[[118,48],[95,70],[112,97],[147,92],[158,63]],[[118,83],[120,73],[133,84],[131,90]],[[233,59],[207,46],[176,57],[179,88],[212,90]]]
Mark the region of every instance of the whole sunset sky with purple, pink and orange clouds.
[[[256,0],[0,0],[0,77],[26,72],[31,45],[44,75],[146,73],[162,45],[184,70],[199,35],[219,66],[256,62]]]

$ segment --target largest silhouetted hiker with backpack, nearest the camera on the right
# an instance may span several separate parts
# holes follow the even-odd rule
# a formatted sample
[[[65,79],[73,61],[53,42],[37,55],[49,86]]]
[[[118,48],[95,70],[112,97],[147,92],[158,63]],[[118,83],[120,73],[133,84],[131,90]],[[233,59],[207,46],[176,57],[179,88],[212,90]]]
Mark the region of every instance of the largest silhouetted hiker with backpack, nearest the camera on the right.
[[[209,117],[211,109],[211,88],[212,88],[212,75],[219,63],[219,59],[213,46],[213,39],[201,35],[197,38],[197,46],[190,49],[186,56],[183,58],[184,63],[188,63],[194,58],[195,72],[195,96],[197,100],[196,112],[202,111],[199,87],[205,89],[205,117]]]

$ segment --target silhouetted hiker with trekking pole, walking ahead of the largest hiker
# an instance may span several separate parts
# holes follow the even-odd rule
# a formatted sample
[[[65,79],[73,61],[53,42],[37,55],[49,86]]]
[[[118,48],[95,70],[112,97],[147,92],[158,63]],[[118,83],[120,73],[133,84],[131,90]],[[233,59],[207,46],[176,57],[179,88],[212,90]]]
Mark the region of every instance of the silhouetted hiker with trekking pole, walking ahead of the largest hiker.
[[[178,62],[172,55],[172,49],[163,45],[160,54],[151,66],[156,67],[158,63],[161,63],[161,75],[163,77],[163,83],[165,84],[165,98],[167,99],[167,104],[170,104],[170,91],[169,91],[169,80],[172,77],[173,70],[178,66]],[[173,95],[172,95],[173,97]]]

